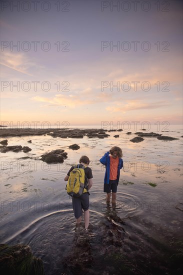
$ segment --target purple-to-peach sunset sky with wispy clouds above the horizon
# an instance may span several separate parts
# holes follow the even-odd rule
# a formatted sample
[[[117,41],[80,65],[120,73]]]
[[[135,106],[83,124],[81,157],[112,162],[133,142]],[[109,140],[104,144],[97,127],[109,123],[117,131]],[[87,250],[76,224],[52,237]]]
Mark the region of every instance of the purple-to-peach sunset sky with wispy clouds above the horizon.
[[[1,1],[0,25],[1,125],[182,123],[181,0]]]

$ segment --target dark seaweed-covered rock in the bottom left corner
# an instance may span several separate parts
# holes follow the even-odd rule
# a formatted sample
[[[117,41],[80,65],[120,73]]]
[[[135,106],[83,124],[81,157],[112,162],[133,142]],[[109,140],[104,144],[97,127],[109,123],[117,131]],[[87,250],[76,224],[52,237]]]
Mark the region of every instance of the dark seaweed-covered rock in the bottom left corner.
[[[0,244],[0,273],[17,275],[44,275],[43,262],[35,257],[25,244]]]

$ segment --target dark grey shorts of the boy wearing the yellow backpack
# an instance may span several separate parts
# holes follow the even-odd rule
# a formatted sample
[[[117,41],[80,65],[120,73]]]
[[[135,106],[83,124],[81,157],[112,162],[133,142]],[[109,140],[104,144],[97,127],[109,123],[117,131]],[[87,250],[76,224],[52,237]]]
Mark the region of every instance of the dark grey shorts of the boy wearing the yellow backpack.
[[[79,197],[72,197],[72,207],[75,218],[79,218],[82,215],[82,209],[84,211],[89,209],[89,194],[83,193]]]

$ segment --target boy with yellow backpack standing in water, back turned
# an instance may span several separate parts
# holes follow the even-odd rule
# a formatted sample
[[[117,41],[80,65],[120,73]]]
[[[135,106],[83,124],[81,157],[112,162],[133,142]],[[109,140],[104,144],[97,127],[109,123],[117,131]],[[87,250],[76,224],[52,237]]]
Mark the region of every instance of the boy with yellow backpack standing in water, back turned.
[[[92,186],[92,171],[88,167],[89,158],[83,155],[79,164],[72,166],[64,180],[67,181],[66,190],[72,197],[72,207],[76,219],[76,225],[81,222],[82,209],[84,210],[84,227],[87,230],[89,225],[89,192]]]

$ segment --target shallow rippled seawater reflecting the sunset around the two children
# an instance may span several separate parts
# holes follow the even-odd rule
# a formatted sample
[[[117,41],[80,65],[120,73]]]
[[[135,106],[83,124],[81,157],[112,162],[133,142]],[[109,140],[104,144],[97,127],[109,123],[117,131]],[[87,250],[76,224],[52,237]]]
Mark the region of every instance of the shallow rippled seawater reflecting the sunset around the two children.
[[[117,132],[119,138],[110,132],[104,139],[49,135],[7,138],[8,145],[28,145],[32,150],[1,153],[1,243],[28,243],[43,260],[47,275],[76,273],[65,266],[65,259],[70,252],[79,253],[83,247],[91,255],[90,264],[83,267],[89,274],[173,274],[174,268],[175,273],[180,272],[182,129],[179,126],[169,129],[162,134],[179,139],[163,141],[144,137],[142,142],[132,143],[129,139],[136,135],[125,131]],[[32,143],[27,143],[29,139]],[[73,143],[80,149],[68,149]],[[105,168],[99,163],[99,158],[113,145],[122,148],[124,161],[115,209],[105,203]],[[64,163],[48,165],[39,160],[41,154],[57,148],[68,153]],[[63,180],[70,165],[83,154],[89,156],[93,173],[90,229],[86,239],[82,232],[75,231],[71,199]],[[111,244],[107,232],[112,234],[112,239],[115,234],[121,234],[122,243]],[[78,242],[80,248],[76,246]],[[111,245],[115,246],[113,254]],[[176,260],[170,263],[174,254]]]

